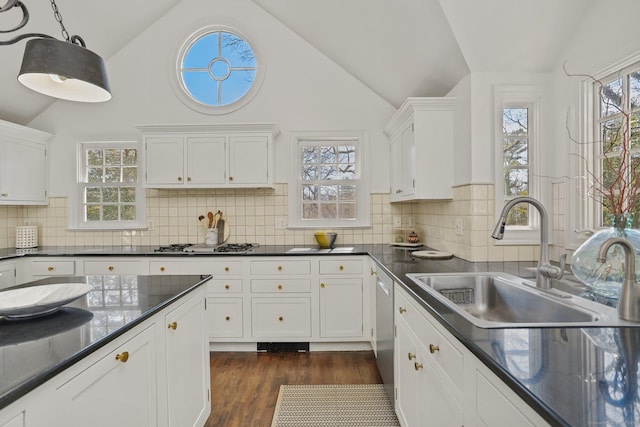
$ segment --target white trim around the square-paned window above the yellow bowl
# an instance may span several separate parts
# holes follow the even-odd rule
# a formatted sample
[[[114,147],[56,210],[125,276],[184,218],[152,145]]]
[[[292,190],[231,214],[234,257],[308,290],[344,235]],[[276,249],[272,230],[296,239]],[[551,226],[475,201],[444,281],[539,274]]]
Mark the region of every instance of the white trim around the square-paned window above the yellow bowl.
[[[288,228],[364,228],[371,226],[369,179],[367,170],[368,134],[365,131],[295,131],[291,132],[291,177],[289,190]],[[302,162],[299,146],[305,141],[346,141],[357,147],[358,153],[358,194],[356,200],[357,218],[355,220],[302,220],[302,202],[300,200]]]

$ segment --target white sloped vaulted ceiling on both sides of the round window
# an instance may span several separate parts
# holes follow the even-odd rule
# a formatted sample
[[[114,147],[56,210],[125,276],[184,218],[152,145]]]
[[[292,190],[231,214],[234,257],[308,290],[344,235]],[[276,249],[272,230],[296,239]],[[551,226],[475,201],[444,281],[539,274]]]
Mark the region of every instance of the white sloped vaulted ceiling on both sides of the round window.
[[[58,0],[63,22],[107,61],[180,1]],[[225,0],[253,1],[363,84],[398,107],[441,96],[469,72],[545,72],[559,61],[593,0]],[[24,29],[60,36],[51,4],[23,0]],[[0,14],[0,30],[20,19]],[[13,35],[0,34],[0,40]],[[24,41],[0,46],[0,119],[28,124],[55,100],[16,76]],[[67,101],[58,101],[67,102]]]

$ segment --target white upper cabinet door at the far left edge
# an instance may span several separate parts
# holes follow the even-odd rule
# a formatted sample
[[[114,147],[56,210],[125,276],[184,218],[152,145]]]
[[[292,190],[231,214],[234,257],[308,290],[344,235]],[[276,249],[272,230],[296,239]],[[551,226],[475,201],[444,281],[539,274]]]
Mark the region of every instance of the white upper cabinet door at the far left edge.
[[[46,153],[45,144],[0,140],[0,203],[47,202]]]

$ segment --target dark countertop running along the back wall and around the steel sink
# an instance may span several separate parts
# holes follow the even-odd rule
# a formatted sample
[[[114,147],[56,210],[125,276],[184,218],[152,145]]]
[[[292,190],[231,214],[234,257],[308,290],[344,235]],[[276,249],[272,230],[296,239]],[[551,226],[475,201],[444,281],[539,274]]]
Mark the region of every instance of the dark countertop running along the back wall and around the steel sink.
[[[465,347],[545,418],[559,426],[635,426],[640,424],[639,328],[482,329],[421,290],[407,273],[503,271],[531,277],[534,262],[472,263],[458,258],[419,260],[415,248],[386,244],[354,245],[351,252],[288,252],[293,246],[260,246],[246,255],[370,255]],[[180,256],[158,254],[153,247],[37,248],[24,256]],[[0,259],[23,256],[0,250]],[[64,314],[64,312],[60,313]],[[1,324],[0,324],[1,327]],[[2,339],[0,330],[0,341]],[[2,405],[0,405],[1,407]]]

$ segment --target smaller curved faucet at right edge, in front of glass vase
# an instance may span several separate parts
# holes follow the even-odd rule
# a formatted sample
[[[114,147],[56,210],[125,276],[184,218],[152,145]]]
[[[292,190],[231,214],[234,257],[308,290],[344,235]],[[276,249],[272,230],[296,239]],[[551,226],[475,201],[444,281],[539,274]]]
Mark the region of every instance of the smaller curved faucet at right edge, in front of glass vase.
[[[640,322],[640,285],[636,283],[636,250],[628,240],[620,237],[607,239],[598,251],[598,262],[607,260],[607,252],[613,245],[624,249],[624,282],[620,288],[618,317],[632,322]]]

